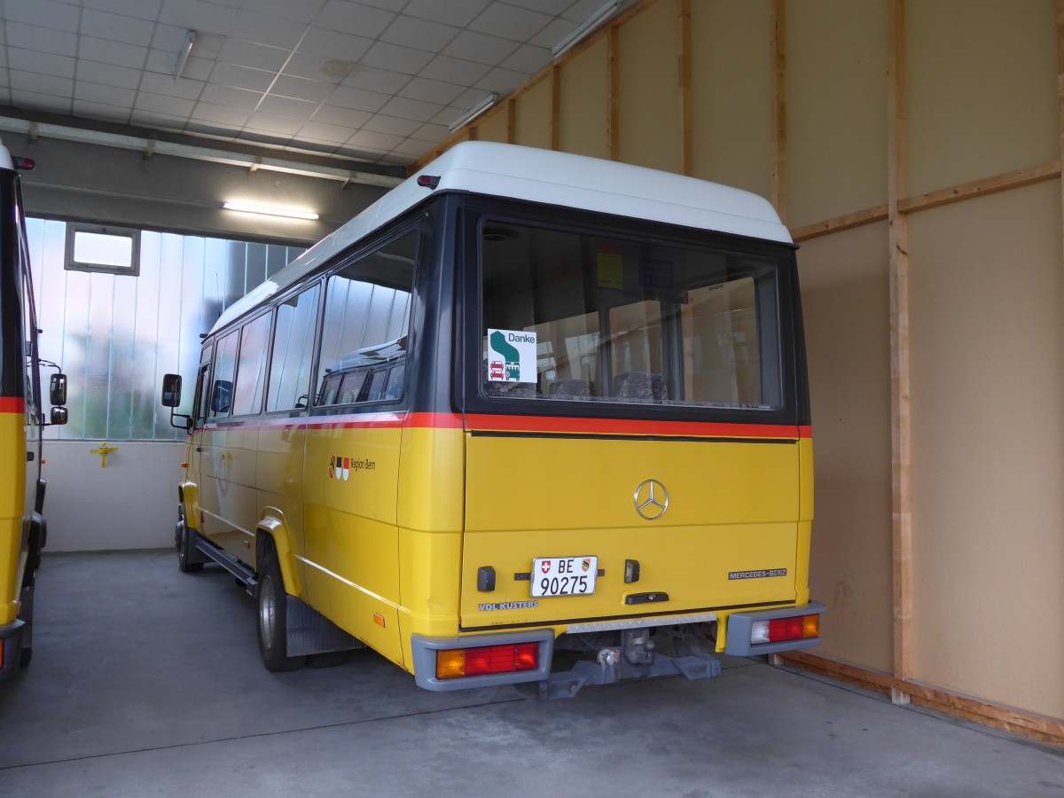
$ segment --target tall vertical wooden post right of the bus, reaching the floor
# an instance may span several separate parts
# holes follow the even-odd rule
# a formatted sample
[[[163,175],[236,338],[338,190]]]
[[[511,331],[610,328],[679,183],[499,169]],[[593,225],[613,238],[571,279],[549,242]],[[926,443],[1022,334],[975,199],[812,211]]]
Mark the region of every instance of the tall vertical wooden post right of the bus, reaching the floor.
[[[905,4],[891,0],[887,22],[887,218],[891,275],[891,471],[894,550],[894,676],[913,676],[912,432],[909,354],[909,220],[907,193]],[[893,696],[904,702],[903,695]]]

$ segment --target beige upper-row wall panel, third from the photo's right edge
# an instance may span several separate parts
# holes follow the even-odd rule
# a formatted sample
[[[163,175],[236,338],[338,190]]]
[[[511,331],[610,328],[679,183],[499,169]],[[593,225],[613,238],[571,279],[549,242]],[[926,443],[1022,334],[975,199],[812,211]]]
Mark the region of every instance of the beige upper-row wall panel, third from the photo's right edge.
[[[696,178],[771,194],[769,0],[692,3]]]

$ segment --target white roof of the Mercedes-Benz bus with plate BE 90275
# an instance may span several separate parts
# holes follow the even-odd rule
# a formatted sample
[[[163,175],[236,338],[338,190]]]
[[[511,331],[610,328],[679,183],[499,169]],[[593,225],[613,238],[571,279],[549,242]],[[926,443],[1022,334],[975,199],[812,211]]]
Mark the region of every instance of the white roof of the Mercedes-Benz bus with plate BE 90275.
[[[418,178],[438,178],[436,187]],[[433,194],[453,190],[597,211],[635,219],[791,244],[768,200],[750,192],[671,172],[566,152],[492,142],[455,145],[349,222],[230,305],[214,330],[384,227]]]

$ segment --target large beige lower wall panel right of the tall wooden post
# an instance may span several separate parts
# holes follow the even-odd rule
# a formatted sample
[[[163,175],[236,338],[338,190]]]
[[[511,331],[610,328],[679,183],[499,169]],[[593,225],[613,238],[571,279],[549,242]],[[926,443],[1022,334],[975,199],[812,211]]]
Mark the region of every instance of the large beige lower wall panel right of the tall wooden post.
[[[1064,717],[1061,187],[910,219],[913,664]]]

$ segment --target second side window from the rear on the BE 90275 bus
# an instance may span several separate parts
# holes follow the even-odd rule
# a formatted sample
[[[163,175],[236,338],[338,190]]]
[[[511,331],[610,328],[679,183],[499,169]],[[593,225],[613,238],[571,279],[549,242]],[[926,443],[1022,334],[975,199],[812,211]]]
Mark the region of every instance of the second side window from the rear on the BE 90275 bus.
[[[311,387],[314,329],[318,319],[315,285],[277,307],[266,410],[296,410],[306,406]]]

